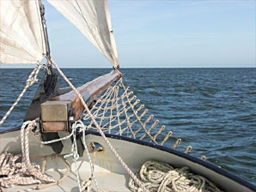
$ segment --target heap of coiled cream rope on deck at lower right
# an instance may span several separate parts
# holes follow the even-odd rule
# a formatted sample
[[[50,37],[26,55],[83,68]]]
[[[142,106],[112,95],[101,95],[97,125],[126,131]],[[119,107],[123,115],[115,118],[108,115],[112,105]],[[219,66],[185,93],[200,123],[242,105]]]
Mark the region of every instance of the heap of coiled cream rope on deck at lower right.
[[[193,174],[189,167],[174,168],[167,163],[149,160],[137,173],[141,182],[150,192],[189,191],[189,192],[220,192],[221,190],[208,179]],[[132,192],[142,191],[130,178],[129,187]]]

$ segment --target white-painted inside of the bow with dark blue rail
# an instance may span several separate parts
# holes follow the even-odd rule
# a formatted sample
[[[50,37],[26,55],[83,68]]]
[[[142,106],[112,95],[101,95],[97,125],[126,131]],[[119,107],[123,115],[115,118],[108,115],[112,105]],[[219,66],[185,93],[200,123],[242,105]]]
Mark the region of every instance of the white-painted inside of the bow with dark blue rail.
[[[1,153],[9,152],[21,154],[20,131],[13,131],[5,133],[1,136]],[[34,134],[29,135],[29,152],[32,162],[41,164],[42,159],[37,156],[52,154],[52,147],[42,146],[38,138],[34,138]],[[118,135],[108,135],[109,141],[113,147],[124,159],[125,163],[132,171],[138,171],[149,159],[167,162],[174,167],[189,166],[192,172],[208,178],[213,183],[225,191],[230,192],[246,192],[255,191],[255,186],[247,183],[239,177],[235,177],[228,171],[223,171],[221,168],[204,162],[203,160],[193,158],[185,153],[180,153],[166,147],[157,146],[155,144],[137,141],[130,138],[120,137]],[[88,132],[85,138],[87,144],[90,142],[98,142],[104,148],[103,151],[97,152],[95,156],[94,174],[99,184],[99,188],[104,191],[129,191],[129,175],[126,173],[119,161],[114,157],[113,153],[107,147],[100,135],[94,132]],[[70,153],[70,140],[63,141],[64,150],[62,154]],[[91,153],[92,157],[92,153]],[[63,183],[55,185],[51,188],[42,189],[40,191],[78,191],[76,183],[75,165],[70,160],[70,175]],[[90,177],[90,167],[88,157],[84,156],[78,160],[79,174],[82,179]],[[62,177],[65,171],[65,165],[58,159],[49,160],[46,165],[46,173],[58,179]],[[5,189],[4,191],[18,191],[21,189],[28,189],[31,186],[18,186],[14,188]]]

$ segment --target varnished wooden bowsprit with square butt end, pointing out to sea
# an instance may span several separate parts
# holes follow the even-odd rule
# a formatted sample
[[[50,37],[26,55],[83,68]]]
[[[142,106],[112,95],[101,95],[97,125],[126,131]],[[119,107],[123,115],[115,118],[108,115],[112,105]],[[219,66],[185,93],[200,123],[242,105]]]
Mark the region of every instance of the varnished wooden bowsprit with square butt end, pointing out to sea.
[[[118,81],[122,74],[119,70],[113,70],[107,75],[102,75],[94,81],[78,87],[87,105],[91,105],[94,99],[100,95],[114,81]],[[44,132],[66,131],[69,122],[78,120],[84,111],[84,106],[74,91],[59,95],[41,104],[41,125]]]

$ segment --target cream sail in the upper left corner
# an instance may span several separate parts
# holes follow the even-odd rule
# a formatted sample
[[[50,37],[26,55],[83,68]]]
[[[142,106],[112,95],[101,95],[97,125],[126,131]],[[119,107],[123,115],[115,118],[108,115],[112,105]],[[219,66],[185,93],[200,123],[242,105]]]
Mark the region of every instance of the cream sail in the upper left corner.
[[[0,9],[0,63],[39,63],[46,52],[39,1],[0,1]]]

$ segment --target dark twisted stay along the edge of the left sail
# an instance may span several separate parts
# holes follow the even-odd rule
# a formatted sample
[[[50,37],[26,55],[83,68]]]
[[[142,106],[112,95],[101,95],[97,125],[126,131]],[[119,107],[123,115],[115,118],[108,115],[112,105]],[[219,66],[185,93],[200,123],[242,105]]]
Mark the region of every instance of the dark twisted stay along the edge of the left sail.
[[[41,15],[41,21],[42,21],[42,27],[43,27],[43,33],[45,37],[46,42],[46,58],[47,58],[47,68],[50,69],[52,72],[52,62],[51,62],[51,55],[50,55],[50,45],[49,45],[49,39],[48,39],[48,33],[47,33],[47,27],[46,27],[46,18],[45,18],[45,6],[39,0],[40,4],[40,15]]]

